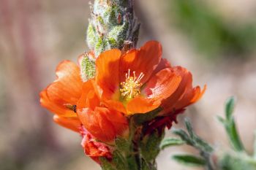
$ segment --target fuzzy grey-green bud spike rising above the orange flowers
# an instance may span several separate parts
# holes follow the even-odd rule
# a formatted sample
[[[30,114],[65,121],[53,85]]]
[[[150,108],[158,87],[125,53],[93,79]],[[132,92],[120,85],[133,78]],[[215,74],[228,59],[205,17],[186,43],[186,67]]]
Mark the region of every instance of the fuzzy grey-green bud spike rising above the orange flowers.
[[[95,0],[91,4],[91,18],[86,42],[94,57],[85,56],[82,61],[83,80],[89,80],[95,59],[105,50],[117,48],[127,51],[138,42],[140,24],[135,17],[134,0]]]

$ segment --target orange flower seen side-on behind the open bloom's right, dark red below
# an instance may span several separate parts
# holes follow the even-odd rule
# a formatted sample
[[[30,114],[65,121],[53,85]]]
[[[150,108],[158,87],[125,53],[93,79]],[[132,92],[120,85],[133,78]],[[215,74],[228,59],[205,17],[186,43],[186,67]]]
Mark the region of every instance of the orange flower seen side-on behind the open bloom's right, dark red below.
[[[167,61],[162,61],[160,67],[171,68],[173,72],[181,76],[181,83],[171,96],[162,101],[162,112],[154,120],[148,122],[146,134],[151,134],[156,129],[163,131],[165,127],[170,129],[173,122],[177,123],[177,115],[184,112],[190,104],[198,101],[206,91],[206,85],[203,90],[199,86],[192,87],[192,74],[187,69],[181,66],[171,67]]]

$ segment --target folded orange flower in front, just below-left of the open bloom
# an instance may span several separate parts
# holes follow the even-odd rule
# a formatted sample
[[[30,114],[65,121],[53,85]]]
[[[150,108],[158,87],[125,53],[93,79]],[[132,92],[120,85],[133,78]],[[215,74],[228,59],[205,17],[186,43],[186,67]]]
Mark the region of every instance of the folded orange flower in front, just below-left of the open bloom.
[[[78,101],[78,117],[86,130],[103,142],[111,142],[128,131],[127,118],[121,112],[100,104],[91,80],[83,84],[83,94]]]

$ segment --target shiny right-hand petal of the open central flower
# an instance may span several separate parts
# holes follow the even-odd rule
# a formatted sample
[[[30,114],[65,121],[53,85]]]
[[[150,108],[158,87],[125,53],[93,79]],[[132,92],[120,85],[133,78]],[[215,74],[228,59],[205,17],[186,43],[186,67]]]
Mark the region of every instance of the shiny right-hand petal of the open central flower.
[[[180,82],[181,77],[173,73],[170,68],[162,69],[146,82],[146,87],[142,92],[147,98],[161,103],[163,99],[176,91]]]

